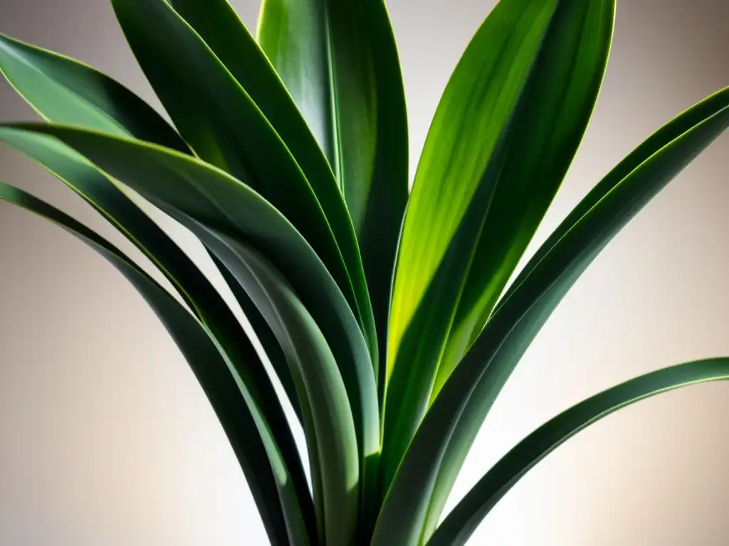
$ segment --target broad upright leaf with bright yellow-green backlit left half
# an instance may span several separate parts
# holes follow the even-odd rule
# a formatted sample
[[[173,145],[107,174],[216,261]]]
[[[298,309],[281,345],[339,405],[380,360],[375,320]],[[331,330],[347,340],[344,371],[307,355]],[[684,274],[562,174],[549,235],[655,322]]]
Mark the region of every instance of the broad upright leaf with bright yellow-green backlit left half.
[[[604,74],[614,8],[502,1],[448,82],[399,250],[385,438],[400,445],[388,447],[389,472],[564,177]]]

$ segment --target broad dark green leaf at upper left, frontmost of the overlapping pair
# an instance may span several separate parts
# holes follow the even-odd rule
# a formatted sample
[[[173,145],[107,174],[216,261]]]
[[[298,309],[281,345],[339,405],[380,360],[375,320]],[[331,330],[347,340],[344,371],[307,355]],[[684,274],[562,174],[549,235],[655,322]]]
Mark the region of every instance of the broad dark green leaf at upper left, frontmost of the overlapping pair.
[[[112,0],[112,5],[185,140],[200,158],[251,186],[296,226],[351,298],[376,355],[370,298],[354,241],[341,233],[349,245],[342,252],[303,171],[250,95],[165,0]]]

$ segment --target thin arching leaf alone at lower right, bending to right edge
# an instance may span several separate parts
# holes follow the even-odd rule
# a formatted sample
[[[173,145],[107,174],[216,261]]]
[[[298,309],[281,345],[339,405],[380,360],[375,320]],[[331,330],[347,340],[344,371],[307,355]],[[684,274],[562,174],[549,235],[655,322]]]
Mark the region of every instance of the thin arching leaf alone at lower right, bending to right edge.
[[[526,472],[599,419],[662,392],[726,379],[729,379],[729,358],[697,360],[636,377],[572,406],[521,440],[486,472],[453,508],[427,545],[465,545],[480,521]]]

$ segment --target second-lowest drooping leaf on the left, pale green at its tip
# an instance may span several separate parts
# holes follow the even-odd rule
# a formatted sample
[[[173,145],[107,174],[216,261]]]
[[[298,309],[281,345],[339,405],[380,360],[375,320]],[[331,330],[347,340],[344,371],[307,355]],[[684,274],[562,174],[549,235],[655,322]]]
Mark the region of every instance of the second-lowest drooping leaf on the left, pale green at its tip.
[[[0,128],[0,141],[38,162],[98,210],[157,266],[206,325],[265,413],[271,434],[290,469],[306,521],[313,529],[313,507],[308,502],[305,474],[273,384],[245,331],[198,266],[109,178],[68,146],[49,136],[4,127]],[[290,372],[280,368],[277,371],[286,386],[286,373],[290,376]],[[297,407],[295,398],[292,403]]]

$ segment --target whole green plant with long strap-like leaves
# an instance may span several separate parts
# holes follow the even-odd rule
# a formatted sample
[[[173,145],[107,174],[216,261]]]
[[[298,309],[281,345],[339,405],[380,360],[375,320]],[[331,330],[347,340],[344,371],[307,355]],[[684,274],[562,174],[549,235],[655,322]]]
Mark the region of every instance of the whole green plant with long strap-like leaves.
[[[410,195],[383,0],[264,0],[257,40],[226,0],[112,6],[176,128],[93,68],[0,36],[1,71],[47,120],[1,124],[0,140],[104,215],[183,303],[51,205],[7,184],[0,198],[79,237],[146,298],[213,405],[274,545],[464,544],[584,427],[729,379],[729,358],[701,360],[585,400],[512,448],[439,525],[526,347],[600,250],[729,125],[729,88],[623,159],[506,288],[587,127],[615,0],[501,0],[448,82]],[[263,360],[140,195],[203,242]],[[274,381],[303,424],[311,491]]]

